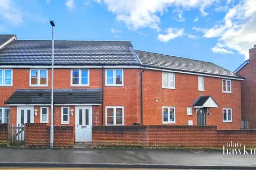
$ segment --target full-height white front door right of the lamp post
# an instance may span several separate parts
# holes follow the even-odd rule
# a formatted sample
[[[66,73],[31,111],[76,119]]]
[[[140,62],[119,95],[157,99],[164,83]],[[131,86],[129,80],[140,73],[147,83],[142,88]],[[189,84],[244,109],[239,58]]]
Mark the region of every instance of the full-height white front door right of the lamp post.
[[[92,107],[76,107],[76,142],[92,141]]]

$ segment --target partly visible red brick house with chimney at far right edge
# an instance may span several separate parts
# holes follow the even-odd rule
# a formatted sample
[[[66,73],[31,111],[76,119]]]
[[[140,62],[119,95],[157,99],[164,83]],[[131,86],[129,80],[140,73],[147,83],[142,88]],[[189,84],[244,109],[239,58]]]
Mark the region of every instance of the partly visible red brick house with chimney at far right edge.
[[[256,128],[256,45],[249,50],[250,58],[239,66],[235,73],[245,80],[241,83],[242,120],[249,122],[249,128]]]

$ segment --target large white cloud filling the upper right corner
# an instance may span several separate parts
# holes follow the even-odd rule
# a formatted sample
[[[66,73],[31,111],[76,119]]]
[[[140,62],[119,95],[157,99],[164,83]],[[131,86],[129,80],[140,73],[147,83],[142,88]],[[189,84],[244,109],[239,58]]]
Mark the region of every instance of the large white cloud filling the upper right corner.
[[[256,44],[256,0],[245,0],[229,8],[221,22],[212,28],[193,28],[202,31],[205,38],[218,38],[229,49],[237,50],[249,58],[248,49]],[[213,47],[214,48],[214,47]],[[215,52],[225,53],[221,48]],[[230,53],[230,52],[228,52]],[[231,54],[231,53],[230,53]]]

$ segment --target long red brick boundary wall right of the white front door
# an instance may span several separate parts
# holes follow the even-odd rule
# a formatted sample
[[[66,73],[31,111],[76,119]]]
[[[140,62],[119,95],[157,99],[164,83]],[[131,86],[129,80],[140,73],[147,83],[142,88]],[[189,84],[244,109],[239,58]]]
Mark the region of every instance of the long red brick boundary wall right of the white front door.
[[[256,130],[217,130],[217,126],[93,126],[93,147],[212,148],[239,142],[256,147]]]

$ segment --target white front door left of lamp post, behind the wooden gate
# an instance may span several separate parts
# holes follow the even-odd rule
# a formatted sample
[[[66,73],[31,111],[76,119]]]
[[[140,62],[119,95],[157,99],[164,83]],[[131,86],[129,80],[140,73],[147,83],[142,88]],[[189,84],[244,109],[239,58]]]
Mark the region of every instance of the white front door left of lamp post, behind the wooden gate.
[[[17,107],[17,125],[25,123],[34,123],[34,107],[19,106]]]

